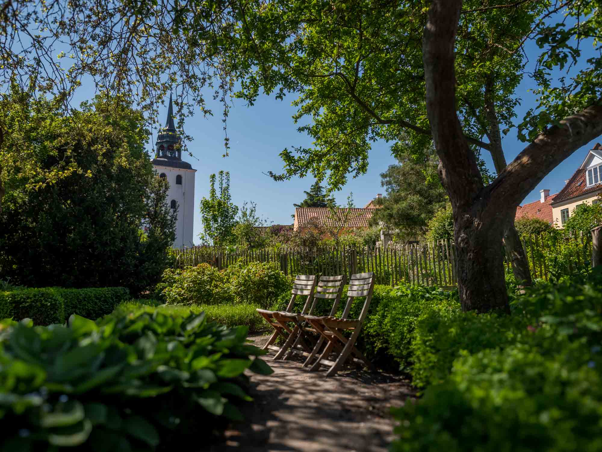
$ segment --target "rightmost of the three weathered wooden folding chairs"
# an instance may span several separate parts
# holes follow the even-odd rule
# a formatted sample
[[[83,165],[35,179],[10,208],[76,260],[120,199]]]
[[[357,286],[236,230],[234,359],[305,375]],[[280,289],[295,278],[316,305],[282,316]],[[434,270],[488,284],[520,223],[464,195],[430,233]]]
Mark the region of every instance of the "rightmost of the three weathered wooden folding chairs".
[[[374,366],[370,361],[366,359],[363,353],[359,351],[355,347],[355,342],[358,340],[358,336],[360,331],[362,330],[362,325],[364,324],[364,320],[366,315],[368,314],[368,309],[370,308],[370,301],[372,300],[372,293],[374,292],[374,274],[373,272],[369,273],[359,273],[355,275],[351,275],[351,280],[349,281],[349,289],[347,290],[347,304],[343,311],[343,315],[341,318],[336,318],[332,316],[327,317],[317,317],[312,315],[306,315],[305,319],[315,328],[321,336],[328,341],[324,351],[318,356],[315,363],[311,366],[310,370],[317,370],[320,365],[326,364],[330,365],[330,369],[326,372],[326,377],[332,377],[332,375],[337,374],[338,370],[341,366],[346,362],[348,358],[359,359],[368,368],[374,369]],[[359,315],[358,319],[349,319],[349,312],[351,310],[351,306],[353,301],[357,298],[365,297],[364,307],[362,307],[362,312]],[[343,331],[351,331],[351,337],[349,339],[344,336]],[[332,362],[328,359],[330,353],[333,353],[334,350],[339,351],[337,359]],[[310,356],[315,355],[317,353],[316,347],[310,354]],[[309,359],[308,359],[309,361]],[[306,362],[309,364],[309,362]]]

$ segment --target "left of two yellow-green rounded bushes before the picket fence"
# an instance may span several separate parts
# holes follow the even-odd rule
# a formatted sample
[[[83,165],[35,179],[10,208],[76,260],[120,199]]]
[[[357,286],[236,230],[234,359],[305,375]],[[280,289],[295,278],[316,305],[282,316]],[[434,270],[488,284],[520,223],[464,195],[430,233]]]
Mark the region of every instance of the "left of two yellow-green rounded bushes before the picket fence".
[[[162,293],[169,304],[219,304],[232,301],[231,289],[225,272],[209,264],[183,270],[167,269],[164,272],[166,284]]]

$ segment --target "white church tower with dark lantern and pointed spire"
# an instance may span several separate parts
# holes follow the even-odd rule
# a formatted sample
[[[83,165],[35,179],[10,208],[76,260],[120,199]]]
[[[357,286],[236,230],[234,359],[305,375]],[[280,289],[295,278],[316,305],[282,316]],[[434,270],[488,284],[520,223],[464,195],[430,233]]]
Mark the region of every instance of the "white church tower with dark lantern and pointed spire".
[[[167,202],[172,209],[178,207],[178,221],[176,222],[176,240],[173,248],[193,245],[194,227],[194,174],[190,163],[182,160],[182,148],[178,146],[181,137],[176,133],[173,124],[172,95],[169,95],[169,110],[165,127],[157,136],[157,157],[152,165],[160,177],[169,181]]]

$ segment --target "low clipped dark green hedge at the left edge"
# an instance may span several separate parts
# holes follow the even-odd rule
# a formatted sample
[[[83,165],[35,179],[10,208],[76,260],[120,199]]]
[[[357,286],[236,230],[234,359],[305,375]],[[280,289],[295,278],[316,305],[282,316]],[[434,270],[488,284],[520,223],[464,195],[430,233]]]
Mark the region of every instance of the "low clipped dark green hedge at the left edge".
[[[0,319],[30,318],[36,325],[63,324],[72,314],[97,319],[128,299],[125,287],[11,290],[0,292]]]

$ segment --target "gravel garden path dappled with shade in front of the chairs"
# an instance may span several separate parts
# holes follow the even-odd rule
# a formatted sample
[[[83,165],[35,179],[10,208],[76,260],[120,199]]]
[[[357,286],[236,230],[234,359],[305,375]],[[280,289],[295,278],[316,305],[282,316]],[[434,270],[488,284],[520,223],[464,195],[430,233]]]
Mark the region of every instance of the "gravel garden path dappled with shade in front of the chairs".
[[[262,347],[268,336],[249,337]],[[415,397],[399,375],[344,369],[325,378],[326,368],[308,372],[300,359],[264,358],[272,375],[252,374],[252,403],[243,407],[246,422],[232,425],[225,442],[211,452],[385,452],[395,422],[389,415]]]

